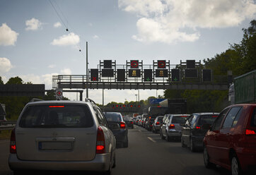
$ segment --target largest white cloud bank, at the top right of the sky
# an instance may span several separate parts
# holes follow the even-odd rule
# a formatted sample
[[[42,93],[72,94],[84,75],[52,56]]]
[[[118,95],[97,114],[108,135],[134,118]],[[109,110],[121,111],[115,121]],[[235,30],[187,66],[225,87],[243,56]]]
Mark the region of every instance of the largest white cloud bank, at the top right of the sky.
[[[194,42],[199,28],[227,28],[253,18],[253,0],[119,0],[119,8],[136,13],[140,42]],[[190,32],[186,32],[189,30]]]

